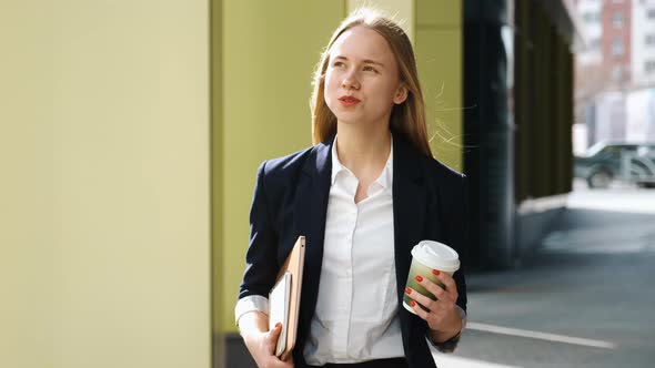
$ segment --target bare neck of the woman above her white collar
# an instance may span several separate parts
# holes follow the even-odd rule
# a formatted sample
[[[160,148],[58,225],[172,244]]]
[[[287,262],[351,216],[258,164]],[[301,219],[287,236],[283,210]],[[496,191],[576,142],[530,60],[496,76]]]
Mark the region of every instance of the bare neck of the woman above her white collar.
[[[391,151],[391,132],[387,126],[364,129],[361,125],[339,123],[337,134],[339,161],[355,174],[386,164]]]

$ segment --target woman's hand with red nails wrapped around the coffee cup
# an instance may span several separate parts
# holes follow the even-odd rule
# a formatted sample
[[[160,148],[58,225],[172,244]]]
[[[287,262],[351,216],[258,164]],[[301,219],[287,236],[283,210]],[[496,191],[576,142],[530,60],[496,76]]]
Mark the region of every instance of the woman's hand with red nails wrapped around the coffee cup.
[[[445,289],[427,279],[427,277],[416,276],[416,282],[436,296],[437,300],[432,300],[410,287],[405,288],[405,293],[412,298],[410,304],[416,315],[427,321],[433,341],[443,343],[462,330],[462,317],[456,305],[457,285],[446,273],[435,269],[433,274],[445,286]],[[421,305],[427,310],[421,308]]]

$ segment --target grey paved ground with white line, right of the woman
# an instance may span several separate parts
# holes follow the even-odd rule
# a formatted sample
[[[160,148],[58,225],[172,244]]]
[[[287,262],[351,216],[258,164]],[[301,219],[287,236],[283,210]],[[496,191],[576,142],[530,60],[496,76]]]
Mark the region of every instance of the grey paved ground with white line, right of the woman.
[[[468,277],[454,367],[655,367],[655,190],[576,186],[514,270]]]

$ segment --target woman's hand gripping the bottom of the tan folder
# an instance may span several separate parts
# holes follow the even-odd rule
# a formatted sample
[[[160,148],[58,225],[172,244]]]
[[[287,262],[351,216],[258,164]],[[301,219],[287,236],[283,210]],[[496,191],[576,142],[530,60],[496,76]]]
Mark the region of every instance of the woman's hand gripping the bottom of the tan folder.
[[[278,337],[282,331],[282,325],[275,325],[270,331],[252,331],[243,336],[250,355],[260,368],[293,368],[293,357],[290,355],[286,360],[280,360],[275,356]]]

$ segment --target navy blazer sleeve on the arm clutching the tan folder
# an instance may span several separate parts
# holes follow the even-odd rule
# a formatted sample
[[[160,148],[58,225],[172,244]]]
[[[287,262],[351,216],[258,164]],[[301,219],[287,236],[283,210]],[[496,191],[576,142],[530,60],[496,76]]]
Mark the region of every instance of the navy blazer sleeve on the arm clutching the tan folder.
[[[269,297],[278,274],[278,234],[266,192],[266,162],[256,174],[256,184],[250,208],[250,243],[245,254],[245,272],[239,289],[239,299],[250,295]]]

